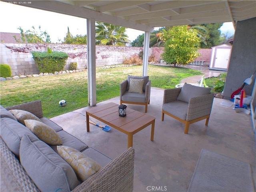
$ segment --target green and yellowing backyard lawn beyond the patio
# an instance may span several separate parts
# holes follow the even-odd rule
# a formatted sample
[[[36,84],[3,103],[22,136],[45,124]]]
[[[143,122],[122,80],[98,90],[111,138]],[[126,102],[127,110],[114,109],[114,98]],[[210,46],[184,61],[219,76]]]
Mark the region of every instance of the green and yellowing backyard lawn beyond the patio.
[[[119,84],[128,74],[141,76],[142,66],[96,68],[96,101],[119,96]],[[151,86],[158,88],[174,88],[181,79],[200,74],[200,71],[183,67],[148,66]],[[41,100],[43,113],[47,118],[88,106],[87,71],[6,80],[1,82],[0,88],[2,106]],[[62,99],[67,102],[65,107],[58,105]]]

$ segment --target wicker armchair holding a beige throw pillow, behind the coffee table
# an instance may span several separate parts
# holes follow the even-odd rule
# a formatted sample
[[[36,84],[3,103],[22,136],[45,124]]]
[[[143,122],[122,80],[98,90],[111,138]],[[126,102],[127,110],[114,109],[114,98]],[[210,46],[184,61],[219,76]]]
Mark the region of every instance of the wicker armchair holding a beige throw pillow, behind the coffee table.
[[[130,79],[144,79],[142,93],[129,92]],[[146,113],[148,111],[148,104],[150,103],[150,88],[151,81],[148,76],[139,77],[128,75],[128,78],[120,83],[120,105],[123,103],[144,105]]]

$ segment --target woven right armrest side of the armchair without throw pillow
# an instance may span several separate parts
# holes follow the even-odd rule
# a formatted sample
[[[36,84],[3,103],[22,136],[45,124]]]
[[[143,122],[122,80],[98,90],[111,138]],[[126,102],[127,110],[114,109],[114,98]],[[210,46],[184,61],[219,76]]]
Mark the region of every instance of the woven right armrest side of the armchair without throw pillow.
[[[210,115],[212,110],[214,94],[206,94],[198,97],[190,98],[188,102],[187,121]]]

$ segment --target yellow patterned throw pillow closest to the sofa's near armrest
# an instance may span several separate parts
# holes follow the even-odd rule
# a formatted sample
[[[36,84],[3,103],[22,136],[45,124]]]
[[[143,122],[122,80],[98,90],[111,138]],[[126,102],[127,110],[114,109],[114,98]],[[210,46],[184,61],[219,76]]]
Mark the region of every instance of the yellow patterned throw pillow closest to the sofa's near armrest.
[[[101,166],[82,152],[68,146],[57,146],[58,154],[74,169],[80,180],[85,181],[98,172]]]

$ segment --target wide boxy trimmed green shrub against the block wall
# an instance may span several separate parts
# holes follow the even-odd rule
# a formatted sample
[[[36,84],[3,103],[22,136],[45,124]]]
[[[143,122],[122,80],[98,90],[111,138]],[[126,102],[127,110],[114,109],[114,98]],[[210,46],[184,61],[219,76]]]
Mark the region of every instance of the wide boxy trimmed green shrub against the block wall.
[[[68,58],[68,54],[57,51],[51,53],[33,51],[32,55],[38,70],[42,73],[54,73],[55,71],[64,70]]]

